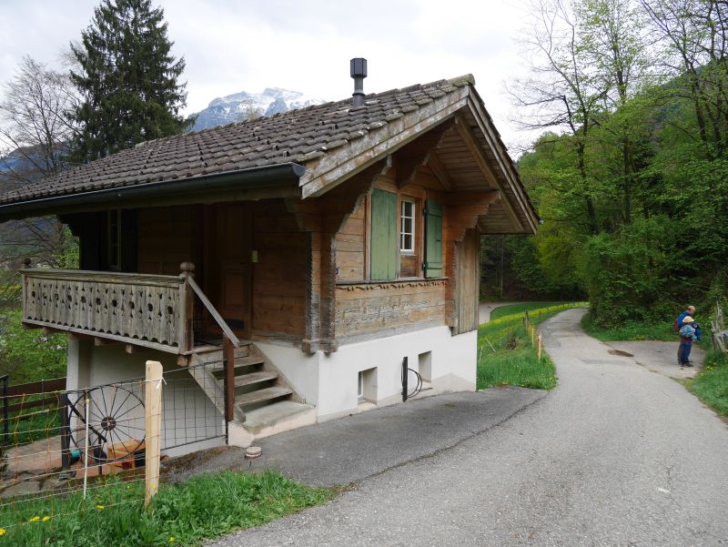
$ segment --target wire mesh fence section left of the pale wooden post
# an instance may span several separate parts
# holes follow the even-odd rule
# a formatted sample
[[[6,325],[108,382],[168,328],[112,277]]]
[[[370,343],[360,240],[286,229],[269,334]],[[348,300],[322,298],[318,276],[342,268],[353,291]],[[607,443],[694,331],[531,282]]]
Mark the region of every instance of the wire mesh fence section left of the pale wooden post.
[[[4,396],[0,528],[56,518],[66,511],[56,508],[59,497],[95,498],[108,475],[133,469],[144,444],[143,390],[144,380],[135,380]]]

